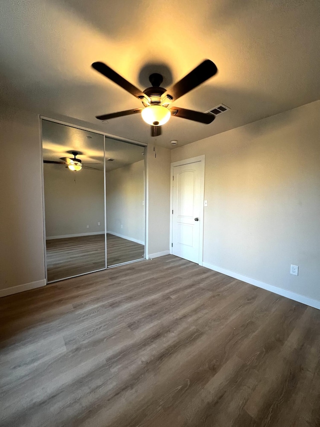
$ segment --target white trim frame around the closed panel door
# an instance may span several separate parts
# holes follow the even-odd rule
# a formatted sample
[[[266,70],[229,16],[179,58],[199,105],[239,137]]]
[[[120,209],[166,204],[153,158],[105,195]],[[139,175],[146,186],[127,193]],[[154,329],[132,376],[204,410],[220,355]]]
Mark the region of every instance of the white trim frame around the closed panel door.
[[[173,208],[173,168],[176,166],[189,165],[191,163],[200,163],[200,224],[199,224],[199,265],[203,262],[203,204],[204,204],[204,154],[190,159],[179,160],[171,163],[170,166],[170,254],[172,254],[172,208]]]

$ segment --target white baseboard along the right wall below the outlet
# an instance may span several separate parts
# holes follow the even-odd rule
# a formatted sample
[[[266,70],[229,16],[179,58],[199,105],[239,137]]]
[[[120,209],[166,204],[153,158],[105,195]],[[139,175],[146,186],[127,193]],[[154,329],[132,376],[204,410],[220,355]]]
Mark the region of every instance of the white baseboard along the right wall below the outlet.
[[[218,267],[217,265],[209,264],[207,262],[203,262],[202,266],[320,310],[320,301],[318,301],[317,299],[312,299],[307,296],[300,295],[299,293],[291,292],[273,285],[268,285],[267,283],[260,282],[260,280],[251,279],[250,277],[243,276],[242,274],[235,273],[234,271],[225,270],[224,268]]]

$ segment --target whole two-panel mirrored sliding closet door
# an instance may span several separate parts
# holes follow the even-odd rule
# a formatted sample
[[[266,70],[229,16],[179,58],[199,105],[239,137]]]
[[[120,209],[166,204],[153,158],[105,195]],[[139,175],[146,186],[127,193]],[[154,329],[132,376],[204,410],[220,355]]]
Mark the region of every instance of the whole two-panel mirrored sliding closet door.
[[[143,259],[144,147],[41,125],[47,282]]]

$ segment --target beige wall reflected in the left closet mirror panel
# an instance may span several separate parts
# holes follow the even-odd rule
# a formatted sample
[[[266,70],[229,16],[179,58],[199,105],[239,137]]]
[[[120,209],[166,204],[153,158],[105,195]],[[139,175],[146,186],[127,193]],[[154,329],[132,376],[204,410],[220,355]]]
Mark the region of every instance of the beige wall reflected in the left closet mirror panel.
[[[103,170],[44,164],[43,175],[47,239],[104,233]]]

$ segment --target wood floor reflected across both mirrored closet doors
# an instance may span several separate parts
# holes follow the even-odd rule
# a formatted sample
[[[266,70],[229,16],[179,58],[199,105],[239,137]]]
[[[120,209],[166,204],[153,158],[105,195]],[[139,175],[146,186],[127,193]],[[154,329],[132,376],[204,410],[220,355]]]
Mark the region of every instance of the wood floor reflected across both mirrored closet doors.
[[[143,258],[144,246],[107,234],[107,265]],[[48,282],[104,268],[104,234],[46,241]]]

